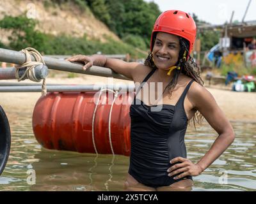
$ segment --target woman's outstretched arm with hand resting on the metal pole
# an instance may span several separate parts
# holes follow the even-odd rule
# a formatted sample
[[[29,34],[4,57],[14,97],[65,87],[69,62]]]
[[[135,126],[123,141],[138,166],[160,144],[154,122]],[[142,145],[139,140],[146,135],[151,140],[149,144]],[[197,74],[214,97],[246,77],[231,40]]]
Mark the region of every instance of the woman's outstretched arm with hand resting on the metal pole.
[[[137,75],[137,72],[140,71],[139,67],[141,66],[141,64],[138,62],[125,62],[120,59],[107,58],[104,55],[75,55],[66,60],[70,62],[83,62],[84,70],[93,65],[111,68],[116,73],[120,73],[121,75],[131,78],[132,80],[134,80],[134,76]]]

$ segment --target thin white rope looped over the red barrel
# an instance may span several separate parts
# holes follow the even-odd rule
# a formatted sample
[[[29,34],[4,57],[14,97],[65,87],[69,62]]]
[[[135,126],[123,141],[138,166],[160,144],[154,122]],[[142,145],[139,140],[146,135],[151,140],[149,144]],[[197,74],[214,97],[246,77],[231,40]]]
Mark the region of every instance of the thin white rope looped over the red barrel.
[[[93,142],[93,147],[94,147],[95,153],[98,154],[98,151],[97,151],[97,148],[96,148],[96,144],[95,144],[95,138],[94,138],[94,120],[95,120],[95,113],[96,113],[97,107],[99,105],[100,96],[101,96],[103,91],[111,91],[111,92],[113,92],[115,94],[115,98],[113,99],[113,103],[111,104],[111,108],[110,108],[110,112],[109,112],[109,123],[108,123],[110,148],[111,148],[112,154],[115,155],[115,152],[113,150],[112,140],[111,140],[111,128],[110,128],[110,125],[111,125],[111,112],[112,112],[112,109],[113,109],[113,105],[114,105],[115,99],[118,96],[118,91],[113,91],[111,89],[100,89],[99,98],[97,100],[97,103],[96,103],[96,106],[95,106],[95,109],[94,109],[94,112],[93,112],[93,117],[92,117],[92,142]]]

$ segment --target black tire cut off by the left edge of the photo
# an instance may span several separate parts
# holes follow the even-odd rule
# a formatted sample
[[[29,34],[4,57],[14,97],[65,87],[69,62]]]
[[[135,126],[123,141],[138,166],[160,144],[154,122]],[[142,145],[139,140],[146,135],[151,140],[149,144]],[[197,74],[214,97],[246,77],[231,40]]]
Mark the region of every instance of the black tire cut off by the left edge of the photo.
[[[9,121],[0,106],[0,175],[7,163],[11,147],[11,131]]]

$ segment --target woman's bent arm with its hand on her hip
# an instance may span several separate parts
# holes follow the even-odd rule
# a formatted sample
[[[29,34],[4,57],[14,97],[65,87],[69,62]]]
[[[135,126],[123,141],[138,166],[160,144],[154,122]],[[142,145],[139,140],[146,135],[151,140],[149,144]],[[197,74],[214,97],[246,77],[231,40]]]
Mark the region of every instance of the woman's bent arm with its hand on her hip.
[[[196,176],[202,173],[208,166],[210,166],[234,141],[235,133],[225,114],[222,112],[212,94],[197,83],[193,83],[188,92],[188,99],[193,106],[205,117],[207,122],[218,133],[218,138],[212,144],[212,147],[206,154],[193,164],[189,159],[176,157],[170,163],[180,161],[182,163],[175,164],[169,168],[170,176],[179,172],[184,172],[177,176],[177,179],[185,177],[186,175]]]

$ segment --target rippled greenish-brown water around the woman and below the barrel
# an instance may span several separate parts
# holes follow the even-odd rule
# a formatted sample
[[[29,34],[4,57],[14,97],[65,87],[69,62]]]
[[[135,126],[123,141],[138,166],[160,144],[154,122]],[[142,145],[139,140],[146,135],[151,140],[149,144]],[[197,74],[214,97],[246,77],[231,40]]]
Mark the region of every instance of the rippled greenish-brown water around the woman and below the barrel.
[[[123,191],[129,157],[47,150],[36,142],[31,111],[6,110],[12,129],[10,157],[0,177],[0,191]],[[256,190],[255,123],[232,122],[236,140],[198,177],[193,191]],[[188,158],[196,163],[217,133],[204,124],[188,127]],[[33,176],[35,175],[35,179]]]

